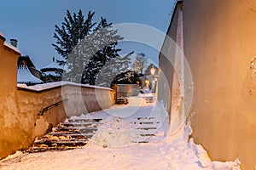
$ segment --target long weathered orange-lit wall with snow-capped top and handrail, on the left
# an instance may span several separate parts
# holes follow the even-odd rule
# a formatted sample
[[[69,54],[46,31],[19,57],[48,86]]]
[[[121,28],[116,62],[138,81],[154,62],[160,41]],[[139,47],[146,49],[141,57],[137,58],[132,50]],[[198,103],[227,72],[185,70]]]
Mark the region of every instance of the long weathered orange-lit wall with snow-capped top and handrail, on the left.
[[[36,137],[69,116],[100,111],[114,104],[115,92],[110,88],[72,82],[17,87],[20,53],[4,41],[0,32],[0,159],[16,150],[26,150]]]

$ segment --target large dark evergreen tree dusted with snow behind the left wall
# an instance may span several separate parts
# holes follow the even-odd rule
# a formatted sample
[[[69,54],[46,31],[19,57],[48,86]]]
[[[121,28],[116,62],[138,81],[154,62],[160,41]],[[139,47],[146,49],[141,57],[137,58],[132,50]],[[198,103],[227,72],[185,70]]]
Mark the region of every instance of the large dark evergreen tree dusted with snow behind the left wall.
[[[93,22],[94,14],[89,12],[84,20],[81,10],[73,15],[67,10],[62,26],[55,26],[56,44],[53,46],[64,58],[62,63],[67,65],[64,80],[95,85],[99,72],[108,61],[119,65],[120,49],[116,46],[123,38],[106,19],[101,18],[99,23]],[[125,62],[119,63],[122,63],[122,67],[126,65]]]

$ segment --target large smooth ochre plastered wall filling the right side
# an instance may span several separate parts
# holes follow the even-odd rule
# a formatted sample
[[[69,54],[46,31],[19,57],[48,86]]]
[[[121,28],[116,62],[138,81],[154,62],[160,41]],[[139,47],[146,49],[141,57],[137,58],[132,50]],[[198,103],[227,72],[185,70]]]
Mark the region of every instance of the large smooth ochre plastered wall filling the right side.
[[[184,54],[195,82],[195,142],[212,160],[256,165],[256,5],[253,0],[184,0]],[[256,66],[256,64],[255,64]],[[255,67],[256,68],[256,67]]]

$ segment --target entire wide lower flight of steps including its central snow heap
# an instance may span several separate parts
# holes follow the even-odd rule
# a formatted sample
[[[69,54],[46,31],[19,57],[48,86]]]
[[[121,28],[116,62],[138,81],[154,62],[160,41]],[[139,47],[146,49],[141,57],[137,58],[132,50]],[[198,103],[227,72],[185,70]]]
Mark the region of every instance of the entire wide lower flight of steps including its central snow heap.
[[[155,135],[160,124],[160,120],[154,116],[104,119],[72,117],[54,127],[52,132],[36,140],[29,151],[74,149],[87,144],[89,139],[103,146],[106,146],[105,141],[117,139],[119,141],[112,141],[114,144],[107,144],[107,146],[119,145],[122,143],[120,141],[123,141],[125,145],[148,143],[152,141],[152,138],[160,136]]]

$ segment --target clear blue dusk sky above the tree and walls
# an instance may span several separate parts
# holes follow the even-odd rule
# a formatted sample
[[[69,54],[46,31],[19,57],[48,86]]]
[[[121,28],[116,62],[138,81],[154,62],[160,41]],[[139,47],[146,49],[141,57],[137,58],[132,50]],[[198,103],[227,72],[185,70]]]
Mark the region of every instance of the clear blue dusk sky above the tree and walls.
[[[18,39],[21,54],[29,55],[40,69],[58,56],[51,43],[55,43],[55,25],[61,26],[67,9],[72,13],[82,9],[84,15],[94,11],[95,21],[102,16],[113,24],[137,23],[166,32],[173,3],[174,0],[8,0],[1,3],[0,31],[7,42]],[[120,47],[123,54],[143,52],[158,63],[158,51],[153,48],[138,43],[122,43]]]

